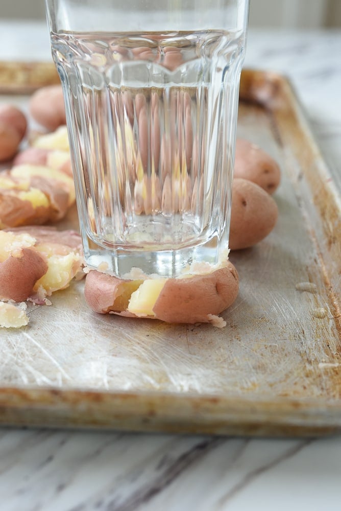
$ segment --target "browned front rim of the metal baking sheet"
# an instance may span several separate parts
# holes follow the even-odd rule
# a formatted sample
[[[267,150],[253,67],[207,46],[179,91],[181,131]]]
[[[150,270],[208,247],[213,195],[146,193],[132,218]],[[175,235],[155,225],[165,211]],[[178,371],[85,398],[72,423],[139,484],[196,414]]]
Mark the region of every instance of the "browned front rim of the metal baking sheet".
[[[310,436],[341,430],[341,410],[318,401],[238,400],[175,394],[0,389],[5,424],[173,433]]]

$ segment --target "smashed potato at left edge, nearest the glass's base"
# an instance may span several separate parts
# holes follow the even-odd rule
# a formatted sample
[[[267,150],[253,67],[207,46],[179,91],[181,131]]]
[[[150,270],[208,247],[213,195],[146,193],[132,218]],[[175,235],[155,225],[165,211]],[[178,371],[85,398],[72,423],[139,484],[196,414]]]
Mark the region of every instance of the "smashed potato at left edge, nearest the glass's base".
[[[36,227],[0,231],[0,299],[44,304],[47,296],[83,274],[75,231]]]

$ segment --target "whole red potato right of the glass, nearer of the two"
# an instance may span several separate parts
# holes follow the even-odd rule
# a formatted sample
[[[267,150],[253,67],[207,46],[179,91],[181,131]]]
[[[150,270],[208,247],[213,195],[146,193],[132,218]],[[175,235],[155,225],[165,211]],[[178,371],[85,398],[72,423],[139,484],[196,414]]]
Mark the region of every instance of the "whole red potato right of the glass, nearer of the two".
[[[275,227],[278,208],[274,199],[258,184],[234,179],[229,247],[248,248],[260,242]]]

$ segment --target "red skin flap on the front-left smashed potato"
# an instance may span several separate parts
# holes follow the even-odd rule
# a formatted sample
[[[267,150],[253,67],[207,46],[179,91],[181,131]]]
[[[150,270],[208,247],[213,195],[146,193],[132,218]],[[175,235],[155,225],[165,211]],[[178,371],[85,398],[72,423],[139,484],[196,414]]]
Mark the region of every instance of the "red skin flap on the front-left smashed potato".
[[[0,263],[0,297],[25,301],[46,271],[47,263],[37,251],[22,248],[20,257],[10,255]]]

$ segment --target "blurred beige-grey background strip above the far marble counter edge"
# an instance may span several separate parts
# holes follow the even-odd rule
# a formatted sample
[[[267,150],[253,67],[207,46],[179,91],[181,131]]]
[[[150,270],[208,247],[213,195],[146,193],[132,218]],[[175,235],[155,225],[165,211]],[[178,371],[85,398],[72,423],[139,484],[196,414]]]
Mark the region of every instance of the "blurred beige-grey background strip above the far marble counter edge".
[[[44,19],[43,0],[0,0],[0,18]],[[250,0],[250,27],[341,28],[340,0]]]

